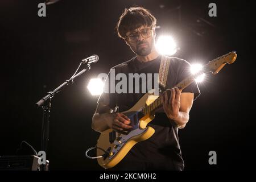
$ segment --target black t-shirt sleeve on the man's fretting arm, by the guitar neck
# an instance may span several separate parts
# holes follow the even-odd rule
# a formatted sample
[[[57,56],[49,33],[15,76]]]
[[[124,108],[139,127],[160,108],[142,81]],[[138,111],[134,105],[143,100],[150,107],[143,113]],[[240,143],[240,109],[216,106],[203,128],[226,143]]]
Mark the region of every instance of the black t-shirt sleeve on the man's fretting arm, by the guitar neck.
[[[191,76],[191,64],[188,63],[188,61],[182,60],[180,67],[179,67],[179,72],[177,73],[177,83],[178,84],[180,81],[184,80],[185,78]],[[182,90],[182,93],[184,92],[189,92],[189,93],[194,93],[194,101],[196,100],[197,97],[200,96],[200,90],[199,87],[196,83],[196,81],[193,81],[192,84],[188,85],[186,88]]]

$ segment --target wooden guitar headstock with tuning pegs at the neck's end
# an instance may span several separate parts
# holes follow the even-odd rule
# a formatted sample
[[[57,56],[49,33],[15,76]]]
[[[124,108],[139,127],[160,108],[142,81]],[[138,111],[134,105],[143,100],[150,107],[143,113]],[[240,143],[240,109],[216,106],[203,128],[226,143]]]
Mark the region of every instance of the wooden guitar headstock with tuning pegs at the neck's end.
[[[210,61],[207,65],[204,66],[204,69],[205,71],[212,72],[213,75],[216,75],[225,66],[226,63],[232,64],[236,59],[236,52],[229,52],[223,56],[217,57],[216,59]]]

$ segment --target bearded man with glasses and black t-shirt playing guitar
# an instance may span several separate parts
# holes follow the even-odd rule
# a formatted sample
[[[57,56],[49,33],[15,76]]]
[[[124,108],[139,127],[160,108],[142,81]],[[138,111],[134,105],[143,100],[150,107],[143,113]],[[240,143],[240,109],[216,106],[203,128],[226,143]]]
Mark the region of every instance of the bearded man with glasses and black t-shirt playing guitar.
[[[133,59],[116,65],[116,73],[158,73],[162,55],[155,48],[155,17],[142,7],[125,9],[117,24],[118,36],[136,54]],[[183,90],[174,87],[188,77],[190,64],[171,57],[166,88],[161,94],[163,107],[148,124],[155,129],[151,138],[135,144],[114,170],[183,170],[178,130],[189,121],[193,100],[200,94],[196,82]],[[147,78],[149,79],[149,78]],[[152,79],[154,80],[154,79]],[[151,80],[151,81],[152,81]],[[147,80],[148,81],[148,80]],[[128,83],[127,83],[128,84]],[[142,84],[142,83],[140,83]],[[154,84],[152,84],[154,85]],[[131,85],[127,85],[127,88]],[[119,111],[133,106],[143,93],[102,93],[92,119],[92,128],[98,132],[113,129],[119,133],[131,129],[130,119],[122,113],[110,112],[116,105]]]

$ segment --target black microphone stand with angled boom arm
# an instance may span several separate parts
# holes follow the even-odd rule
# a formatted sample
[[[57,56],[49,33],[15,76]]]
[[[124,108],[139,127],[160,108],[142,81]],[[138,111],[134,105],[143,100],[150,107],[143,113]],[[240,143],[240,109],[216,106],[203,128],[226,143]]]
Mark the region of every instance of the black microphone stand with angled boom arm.
[[[41,151],[46,152],[46,156],[49,155],[48,153],[48,142],[49,142],[49,117],[51,112],[51,99],[53,96],[55,96],[56,93],[59,93],[65,86],[72,85],[75,78],[82,75],[84,72],[88,72],[90,70],[90,63],[87,63],[87,67],[85,69],[82,69],[79,73],[77,71],[79,70],[80,66],[82,64],[82,61],[77,68],[74,75],[69,78],[69,80],[66,80],[63,84],[58,86],[55,90],[52,92],[48,92],[46,96],[44,96],[41,100],[36,102],[37,107],[42,107],[43,109],[43,121],[42,121],[42,133],[41,133]],[[77,74],[76,74],[77,73]],[[40,171],[48,171],[48,160],[47,163],[42,164],[40,166]]]

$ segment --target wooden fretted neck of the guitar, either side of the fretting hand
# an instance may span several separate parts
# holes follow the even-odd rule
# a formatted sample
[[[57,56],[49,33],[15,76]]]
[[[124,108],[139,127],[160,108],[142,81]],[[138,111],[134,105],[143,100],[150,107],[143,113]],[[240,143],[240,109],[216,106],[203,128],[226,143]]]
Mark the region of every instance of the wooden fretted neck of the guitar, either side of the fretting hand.
[[[199,75],[196,74],[196,75]],[[192,82],[195,81],[195,76],[191,76],[191,77],[187,77],[184,80],[182,80],[181,82],[179,82],[178,84],[176,84],[175,86],[177,88],[179,88],[180,90],[183,90],[184,88],[186,88],[188,85],[192,84]],[[150,114],[150,113],[154,113],[154,111],[156,109],[158,109],[160,106],[162,106],[163,102],[161,101],[160,97],[156,98],[156,100],[154,102],[152,102],[150,105],[146,105],[143,107],[143,113],[146,114]]]

